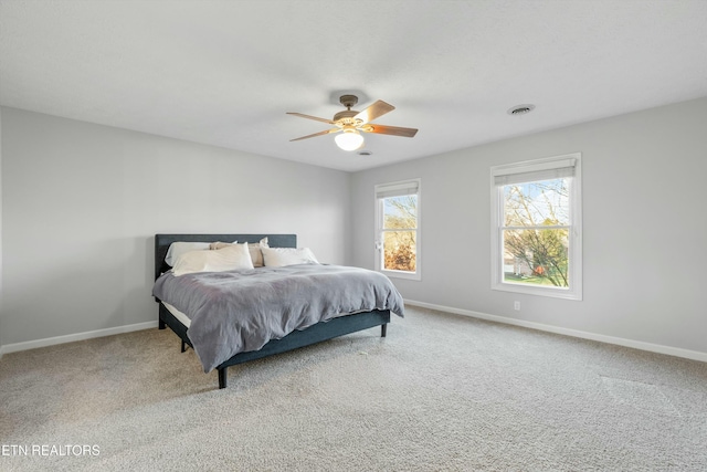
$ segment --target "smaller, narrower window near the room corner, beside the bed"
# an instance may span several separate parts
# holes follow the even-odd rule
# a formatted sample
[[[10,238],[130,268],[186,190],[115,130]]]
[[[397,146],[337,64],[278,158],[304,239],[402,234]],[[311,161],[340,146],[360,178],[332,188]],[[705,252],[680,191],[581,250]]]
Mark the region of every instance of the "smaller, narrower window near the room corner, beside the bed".
[[[420,179],[376,186],[376,270],[420,280]]]

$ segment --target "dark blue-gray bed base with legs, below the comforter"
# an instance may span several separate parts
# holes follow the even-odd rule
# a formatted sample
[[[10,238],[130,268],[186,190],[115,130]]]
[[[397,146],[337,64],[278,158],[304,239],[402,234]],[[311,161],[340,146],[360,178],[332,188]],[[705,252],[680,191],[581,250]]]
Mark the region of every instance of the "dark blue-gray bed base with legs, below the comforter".
[[[219,388],[228,386],[228,368],[238,364],[247,363],[263,357],[273,356],[275,354],[287,353],[300,347],[321,343],[335,337],[356,333],[362,329],[369,329],[380,326],[381,337],[386,337],[386,332],[390,323],[389,310],[373,310],[371,312],[357,313],[354,315],[340,316],[328,322],[320,322],[314,326],[309,326],[304,331],[295,331],[282,339],[273,339],[263,346],[260,350],[247,353],[239,353],[217,367],[219,371]],[[187,327],[172,315],[169,310],[161,303],[159,304],[159,328],[165,329],[167,326],[181,338],[181,352],[186,350],[186,346],[191,346]]]

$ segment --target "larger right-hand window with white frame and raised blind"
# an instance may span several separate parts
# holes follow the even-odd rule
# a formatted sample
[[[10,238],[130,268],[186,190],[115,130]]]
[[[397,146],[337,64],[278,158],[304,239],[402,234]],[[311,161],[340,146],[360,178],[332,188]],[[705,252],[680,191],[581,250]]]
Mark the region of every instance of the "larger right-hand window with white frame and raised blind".
[[[492,289],[582,300],[580,158],[492,168]]]

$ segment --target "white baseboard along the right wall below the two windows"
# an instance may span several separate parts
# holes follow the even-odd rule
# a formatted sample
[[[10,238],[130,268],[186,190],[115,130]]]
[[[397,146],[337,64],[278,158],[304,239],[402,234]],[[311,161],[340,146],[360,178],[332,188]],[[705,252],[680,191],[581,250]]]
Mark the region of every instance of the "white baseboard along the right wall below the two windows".
[[[686,359],[700,360],[707,363],[707,353],[698,350],[683,349],[679,347],[663,346],[659,344],[644,343],[641,340],[626,339],[623,337],[605,336],[602,334],[589,333],[578,329],[562,328],[558,326],[545,325],[542,323],[526,322],[523,319],[507,318],[505,316],[489,315],[471,310],[454,308],[451,306],[435,305],[432,303],[405,300],[405,304],[420,306],[422,308],[437,310],[440,312],[454,313],[457,315],[471,316],[489,322],[504,323],[507,325],[523,326],[526,328],[544,331],[548,333],[561,334],[566,336],[579,337],[582,339],[598,340],[600,343],[615,344],[618,346],[632,347],[634,349],[648,350],[651,353],[667,354],[668,356],[684,357]]]

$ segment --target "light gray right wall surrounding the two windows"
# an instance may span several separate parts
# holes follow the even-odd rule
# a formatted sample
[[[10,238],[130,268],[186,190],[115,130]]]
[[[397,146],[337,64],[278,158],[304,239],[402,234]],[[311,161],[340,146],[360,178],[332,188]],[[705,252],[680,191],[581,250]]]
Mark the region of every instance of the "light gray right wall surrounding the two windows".
[[[358,172],[352,262],[373,266],[373,186],[421,177],[422,281],[395,281],[405,298],[707,353],[706,124],[703,98]],[[489,168],[574,151],[583,301],[492,291]]]

